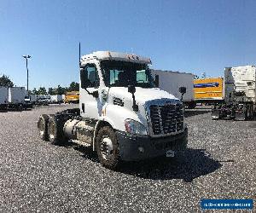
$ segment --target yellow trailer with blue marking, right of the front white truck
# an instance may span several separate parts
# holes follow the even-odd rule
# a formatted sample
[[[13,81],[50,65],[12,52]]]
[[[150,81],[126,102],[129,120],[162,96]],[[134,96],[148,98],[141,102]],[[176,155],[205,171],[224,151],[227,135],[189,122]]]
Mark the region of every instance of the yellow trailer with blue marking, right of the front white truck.
[[[224,101],[224,79],[195,79],[194,95],[197,103],[215,103]]]

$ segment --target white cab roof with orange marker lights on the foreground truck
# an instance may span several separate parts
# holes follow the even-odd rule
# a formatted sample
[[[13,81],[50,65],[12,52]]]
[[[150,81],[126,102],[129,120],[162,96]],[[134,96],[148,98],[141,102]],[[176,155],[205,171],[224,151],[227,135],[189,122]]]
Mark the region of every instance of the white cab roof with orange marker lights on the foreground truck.
[[[129,62],[135,62],[140,64],[151,64],[151,60],[147,57],[134,55],[134,54],[125,54],[113,51],[96,51],[92,54],[83,55],[81,57],[81,63],[84,64],[89,60],[123,60]]]

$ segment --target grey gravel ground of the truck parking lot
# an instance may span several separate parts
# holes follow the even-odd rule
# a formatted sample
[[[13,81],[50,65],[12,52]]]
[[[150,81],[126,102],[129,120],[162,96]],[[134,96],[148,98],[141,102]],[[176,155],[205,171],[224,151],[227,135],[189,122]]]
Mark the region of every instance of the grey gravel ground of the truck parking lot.
[[[0,112],[0,212],[201,212],[201,199],[255,205],[256,121],[212,121],[208,109],[190,110],[188,151],[113,171],[88,147],[38,138],[39,115],[65,108]]]

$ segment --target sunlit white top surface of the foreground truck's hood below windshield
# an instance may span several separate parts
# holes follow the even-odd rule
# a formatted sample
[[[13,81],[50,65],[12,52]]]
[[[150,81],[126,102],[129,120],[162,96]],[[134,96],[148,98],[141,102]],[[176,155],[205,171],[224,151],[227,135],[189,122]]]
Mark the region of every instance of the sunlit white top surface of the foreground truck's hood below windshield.
[[[120,98],[122,100],[132,100],[131,93],[128,92],[127,88],[124,87],[112,87],[108,91],[108,95],[111,95],[113,97]],[[135,100],[139,104],[144,104],[147,101],[152,101],[156,99],[172,99],[172,100],[178,100],[174,95],[166,92],[165,90],[159,89],[159,88],[136,88]]]

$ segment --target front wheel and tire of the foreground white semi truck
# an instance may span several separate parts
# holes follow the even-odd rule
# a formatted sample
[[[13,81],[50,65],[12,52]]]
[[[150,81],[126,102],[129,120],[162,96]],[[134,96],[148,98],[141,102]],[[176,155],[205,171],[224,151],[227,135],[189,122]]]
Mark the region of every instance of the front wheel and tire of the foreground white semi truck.
[[[101,164],[110,170],[117,168],[120,163],[119,144],[113,129],[104,126],[98,131],[96,152]]]

